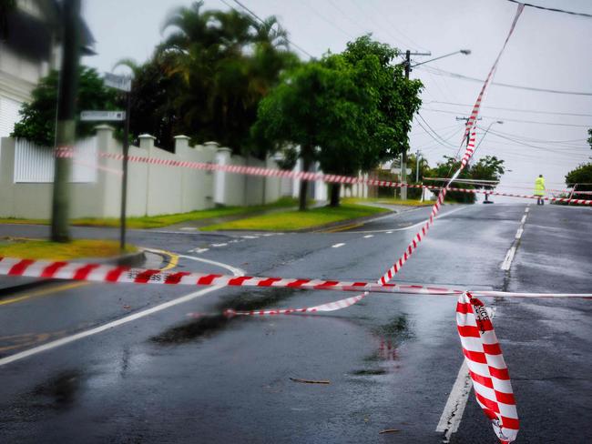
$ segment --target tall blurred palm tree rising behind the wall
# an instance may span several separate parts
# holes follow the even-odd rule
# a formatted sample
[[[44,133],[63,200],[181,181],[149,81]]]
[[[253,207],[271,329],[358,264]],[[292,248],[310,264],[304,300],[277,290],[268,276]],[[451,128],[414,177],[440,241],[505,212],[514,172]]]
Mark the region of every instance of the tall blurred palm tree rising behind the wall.
[[[173,11],[168,29],[158,52],[170,56],[168,75],[185,85],[176,99],[179,125],[199,142],[213,138],[240,151],[261,97],[296,59],[286,31],[274,16],[257,23],[236,10],[205,11],[203,2]]]

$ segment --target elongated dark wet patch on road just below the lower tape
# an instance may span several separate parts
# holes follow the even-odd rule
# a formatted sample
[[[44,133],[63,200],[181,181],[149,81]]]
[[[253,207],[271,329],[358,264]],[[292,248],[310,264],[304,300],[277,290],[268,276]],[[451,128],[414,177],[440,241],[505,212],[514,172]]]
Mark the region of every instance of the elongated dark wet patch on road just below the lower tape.
[[[276,306],[282,300],[290,298],[293,288],[271,288],[260,293],[250,291],[235,298],[221,302],[214,311],[222,312],[230,308],[236,311],[249,311]],[[158,336],[150,338],[151,342],[159,345],[185,344],[202,338],[210,338],[219,331],[227,328],[230,323],[243,317],[227,317],[224,315],[203,315],[177,327],[168,328]]]

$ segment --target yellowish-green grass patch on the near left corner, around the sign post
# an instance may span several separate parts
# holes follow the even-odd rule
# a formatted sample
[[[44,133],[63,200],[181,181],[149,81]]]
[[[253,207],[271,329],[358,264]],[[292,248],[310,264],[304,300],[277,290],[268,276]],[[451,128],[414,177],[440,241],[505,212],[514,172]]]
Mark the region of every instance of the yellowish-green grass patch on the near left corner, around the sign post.
[[[138,248],[126,247],[126,253]],[[27,259],[69,260],[80,257],[114,257],[121,254],[119,243],[114,240],[77,239],[69,243],[47,240],[11,238],[0,241],[0,256]]]

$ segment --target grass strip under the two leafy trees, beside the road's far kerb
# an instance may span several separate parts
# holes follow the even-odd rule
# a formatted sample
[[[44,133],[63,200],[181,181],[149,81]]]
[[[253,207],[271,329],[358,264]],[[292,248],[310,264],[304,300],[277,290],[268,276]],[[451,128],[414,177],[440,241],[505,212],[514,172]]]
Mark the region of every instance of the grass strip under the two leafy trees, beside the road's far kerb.
[[[281,231],[302,228],[321,227],[332,222],[341,222],[358,217],[373,216],[387,212],[379,207],[367,207],[356,204],[343,204],[340,207],[319,207],[308,211],[282,211],[256,217],[248,217],[222,224],[202,227],[205,231],[214,230],[253,230],[253,231]]]

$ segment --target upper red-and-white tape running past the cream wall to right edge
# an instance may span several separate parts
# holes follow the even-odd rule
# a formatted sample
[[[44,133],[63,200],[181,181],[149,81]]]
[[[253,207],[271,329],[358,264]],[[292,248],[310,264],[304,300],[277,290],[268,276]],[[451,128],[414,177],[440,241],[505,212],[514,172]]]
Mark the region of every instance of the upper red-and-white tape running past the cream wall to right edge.
[[[73,157],[74,151],[71,149],[60,149],[56,150],[56,156],[58,157]],[[121,160],[123,154],[117,153],[99,153],[99,156]],[[346,184],[355,185],[362,184],[372,187],[407,187],[407,188],[424,188],[430,190],[440,190],[442,187],[436,187],[434,185],[414,185],[414,184],[403,184],[401,182],[393,182],[391,180],[379,180],[365,177],[350,177],[340,175],[325,175],[322,173],[311,173],[311,172],[297,172],[283,169],[264,168],[260,166],[237,166],[237,165],[217,165],[208,164],[205,162],[192,162],[186,160],[174,160],[174,159],[163,159],[158,157],[146,157],[146,156],[128,156],[130,162],[152,164],[152,165],[163,165],[163,166],[179,166],[186,168],[199,169],[204,171],[223,171],[232,174],[242,174],[247,176],[262,176],[262,177],[289,177],[294,179],[306,180],[306,181],[322,181],[330,184]],[[115,172],[115,171],[114,171]],[[120,174],[120,172],[118,172]],[[504,193],[499,191],[488,191],[483,189],[473,188],[457,188],[450,187],[449,191],[458,193],[469,193],[469,194],[482,194],[488,196],[504,196],[504,197],[518,197],[527,199],[538,199],[539,197],[534,195],[519,195],[514,193]],[[567,197],[542,197],[544,200],[549,202],[563,202],[572,203],[576,205],[592,205],[592,200],[586,199],[573,199]]]

